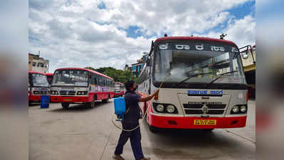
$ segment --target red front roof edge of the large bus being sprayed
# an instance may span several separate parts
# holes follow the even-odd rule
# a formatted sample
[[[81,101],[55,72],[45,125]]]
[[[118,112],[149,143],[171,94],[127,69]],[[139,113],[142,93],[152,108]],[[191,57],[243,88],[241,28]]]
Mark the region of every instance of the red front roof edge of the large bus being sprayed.
[[[218,38],[207,38],[207,37],[192,37],[192,36],[171,36],[171,37],[161,37],[156,39],[155,43],[165,40],[191,40],[191,41],[211,41],[211,42],[221,42],[221,43],[230,43],[235,45],[232,41],[227,41]],[[235,45],[236,46],[236,45]]]

